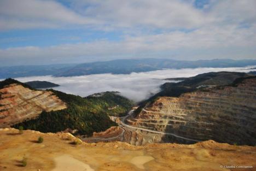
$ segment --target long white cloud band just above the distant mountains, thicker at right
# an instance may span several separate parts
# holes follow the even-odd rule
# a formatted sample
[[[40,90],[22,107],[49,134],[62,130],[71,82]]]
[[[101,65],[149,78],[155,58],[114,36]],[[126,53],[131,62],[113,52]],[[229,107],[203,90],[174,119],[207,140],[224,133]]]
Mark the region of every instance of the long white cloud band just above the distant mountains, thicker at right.
[[[210,31],[211,30],[211,31]],[[234,26],[207,27],[189,33],[175,31],[146,36],[127,36],[120,42],[95,40],[90,43],[62,44],[50,47],[28,46],[0,49],[2,65],[17,62],[39,63],[91,62],[107,58],[173,57],[256,58],[256,25],[237,29]],[[223,51],[223,49],[225,49]],[[203,52],[209,50],[210,54]],[[237,52],[240,50],[240,52]],[[198,52],[203,52],[200,56]],[[223,54],[218,51],[222,51]],[[174,56],[176,57],[176,56]],[[21,60],[20,60],[21,59]],[[42,61],[40,61],[42,60]]]

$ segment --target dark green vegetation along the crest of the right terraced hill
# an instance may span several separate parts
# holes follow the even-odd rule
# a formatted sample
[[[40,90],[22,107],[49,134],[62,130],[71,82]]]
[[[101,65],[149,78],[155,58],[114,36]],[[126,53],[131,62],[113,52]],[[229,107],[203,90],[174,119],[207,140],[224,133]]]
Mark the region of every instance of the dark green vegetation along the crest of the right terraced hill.
[[[210,72],[203,73],[196,76],[192,76],[189,78],[170,78],[166,80],[183,80],[181,82],[166,82],[161,85],[161,91],[156,93],[156,95],[150,97],[146,101],[142,101],[139,104],[139,108],[135,110],[135,115],[139,114],[143,107],[146,105],[150,105],[161,96],[168,97],[179,97],[183,93],[197,91],[197,87],[202,85],[215,85],[215,86],[223,86],[223,85],[232,85],[237,84],[237,82],[249,78],[247,73],[239,73],[239,72]],[[219,87],[218,87],[219,88]],[[221,88],[221,87],[220,87]],[[200,89],[200,91],[208,91],[207,89]]]

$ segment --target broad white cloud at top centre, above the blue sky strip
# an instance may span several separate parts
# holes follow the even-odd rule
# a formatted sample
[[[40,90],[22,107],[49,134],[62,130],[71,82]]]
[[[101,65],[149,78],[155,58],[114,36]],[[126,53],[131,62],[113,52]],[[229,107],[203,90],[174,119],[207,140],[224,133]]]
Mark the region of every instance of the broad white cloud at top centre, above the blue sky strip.
[[[119,27],[191,28],[206,22],[201,11],[193,8],[191,3],[177,0],[92,0],[78,3],[89,5],[84,14]]]

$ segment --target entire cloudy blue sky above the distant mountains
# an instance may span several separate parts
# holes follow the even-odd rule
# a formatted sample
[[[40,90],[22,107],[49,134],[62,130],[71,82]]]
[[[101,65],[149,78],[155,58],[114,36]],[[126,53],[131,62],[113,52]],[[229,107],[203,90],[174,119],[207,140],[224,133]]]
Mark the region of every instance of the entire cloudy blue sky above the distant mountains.
[[[0,66],[256,58],[254,0],[2,0]]]

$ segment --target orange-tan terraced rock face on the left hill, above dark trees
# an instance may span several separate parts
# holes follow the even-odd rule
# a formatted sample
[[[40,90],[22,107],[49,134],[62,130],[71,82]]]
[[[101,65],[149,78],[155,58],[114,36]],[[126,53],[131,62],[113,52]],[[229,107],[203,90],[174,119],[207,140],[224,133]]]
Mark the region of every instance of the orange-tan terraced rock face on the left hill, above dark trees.
[[[43,110],[65,109],[66,104],[50,91],[34,91],[10,84],[0,89],[0,127],[37,117]]]

